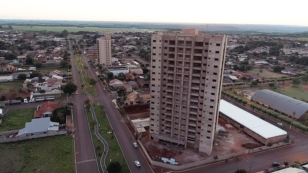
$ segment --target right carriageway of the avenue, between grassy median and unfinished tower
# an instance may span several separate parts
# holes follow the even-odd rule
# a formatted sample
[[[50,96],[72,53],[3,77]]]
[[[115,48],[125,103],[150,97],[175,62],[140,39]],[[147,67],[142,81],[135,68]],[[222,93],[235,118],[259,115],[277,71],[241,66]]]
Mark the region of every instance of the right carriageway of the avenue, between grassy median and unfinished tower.
[[[86,66],[88,67],[87,72],[90,74],[91,77],[97,78],[95,71],[91,68],[89,62],[87,62],[87,57],[84,54],[81,54],[83,61],[85,62]],[[93,101],[102,102],[106,114],[110,120],[110,124],[112,129],[120,143],[122,151],[124,153],[125,158],[127,159],[128,166],[130,167],[132,173],[135,172],[152,172],[151,167],[148,165],[146,159],[144,158],[142,152],[139,148],[135,148],[133,146],[133,137],[126,127],[122,117],[119,115],[117,109],[111,102],[112,97],[109,97],[106,91],[103,91],[103,86],[100,82],[96,84],[96,91],[97,95],[92,97]],[[132,140],[130,139],[132,137]],[[112,148],[111,148],[112,149]],[[112,158],[111,158],[112,159]],[[134,161],[140,161],[141,167],[136,167]]]

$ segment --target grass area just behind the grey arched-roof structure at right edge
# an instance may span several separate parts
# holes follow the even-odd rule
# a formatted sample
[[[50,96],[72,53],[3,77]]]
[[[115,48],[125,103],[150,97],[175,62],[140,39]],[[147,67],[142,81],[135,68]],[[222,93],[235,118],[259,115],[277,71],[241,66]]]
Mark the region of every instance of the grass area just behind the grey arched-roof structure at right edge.
[[[257,90],[262,90],[262,89],[267,89],[271,91],[275,91],[279,93],[279,88],[274,89],[274,88],[257,88]],[[298,88],[298,86],[290,85],[287,87],[282,88],[282,93],[283,95],[289,96],[289,97],[295,97],[298,100],[308,100],[308,91],[304,90],[303,87],[301,87],[301,90]]]

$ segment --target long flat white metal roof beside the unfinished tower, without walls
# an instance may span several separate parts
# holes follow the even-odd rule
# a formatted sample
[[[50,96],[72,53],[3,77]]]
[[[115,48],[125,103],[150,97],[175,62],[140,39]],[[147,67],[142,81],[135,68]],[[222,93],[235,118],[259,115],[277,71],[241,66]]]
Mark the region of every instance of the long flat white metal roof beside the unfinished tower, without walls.
[[[222,99],[220,100],[219,111],[228,116],[229,119],[232,119],[265,139],[287,134],[281,128]]]

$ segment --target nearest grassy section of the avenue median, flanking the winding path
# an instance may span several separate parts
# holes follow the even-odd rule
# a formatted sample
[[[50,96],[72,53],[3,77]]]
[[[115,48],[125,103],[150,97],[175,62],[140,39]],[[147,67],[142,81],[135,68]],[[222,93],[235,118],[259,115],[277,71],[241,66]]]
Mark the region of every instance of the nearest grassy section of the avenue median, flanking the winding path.
[[[118,160],[120,162],[121,166],[122,166],[122,172],[123,173],[129,173],[130,170],[128,168],[128,165],[126,163],[124,155],[121,151],[120,145],[119,145],[117,139],[115,138],[115,135],[113,133],[111,135],[107,133],[108,131],[112,131],[112,129],[111,129],[110,123],[107,119],[106,113],[105,113],[104,110],[103,111],[101,110],[101,106],[98,106],[97,103],[99,103],[99,102],[93,102],[93,107],[95,105],[95,115],[96,115],[97,120],[99,120],[99,124],[100,124],[99,134],[103,137],[103,139],[106,140],[106,142],[109,145],[109,151],[107,153],[107,157],[106,157],[106,160],[105,160],[106,166],[108,166],[108,164],[110,163],[110,152],[111,152],[111,161],[117,161]],[[88,117],[89,122],[91,122],[93,120],[91,111],[87,111],[87,117]],[[109,129],[108,129],[108,127],[109,127]],[[101,142],[99,142],[99,139],[96,137],[96,135],[94,133],[94,128],[91,125],[91,123],[90,123],[90,130],[91,130],[91,135],[92,135],[94,147],[96,148],[96,146],[100,145],[101,148],[102,148],[101,151],[97,151],[95,149],[95,153],[96,153],[96,155],[99,155],[99,160],[100,160],[101,157],[102,157],[102,154],[103,154],[104,145]],[[100,165],[99,165],[99,168],[101,170]]]

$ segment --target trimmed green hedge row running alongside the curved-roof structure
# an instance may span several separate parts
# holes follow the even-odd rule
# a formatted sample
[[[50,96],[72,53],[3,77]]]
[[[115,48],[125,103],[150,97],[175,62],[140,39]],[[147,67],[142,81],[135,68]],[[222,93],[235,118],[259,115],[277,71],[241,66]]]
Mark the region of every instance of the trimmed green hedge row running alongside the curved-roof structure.
[[[274,117],[276,119],[279,119],[282,122],[285,122],[287,124],[290,124],[292,122],[292,126],[298,128],[302,131],[308,131],[308,127],[305,125],[302,125],[301,123],[292,121],[292,119],[287,118],[286,116],[280,115],[272,110],[266,109],[264,107],[258,106],[257,104],[250,104],[250,107],[253,109],[257,109],[258,111],[261,111],[267,115],[270,115],[271,117]]]

